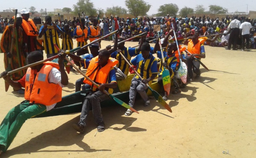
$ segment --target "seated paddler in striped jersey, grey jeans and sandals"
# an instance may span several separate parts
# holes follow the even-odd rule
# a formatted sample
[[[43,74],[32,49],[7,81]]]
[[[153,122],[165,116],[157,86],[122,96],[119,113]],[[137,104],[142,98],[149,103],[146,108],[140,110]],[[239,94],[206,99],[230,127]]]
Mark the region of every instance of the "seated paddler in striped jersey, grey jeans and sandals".
[[[145,107],[150,106],[150,101],[148,100],[148,96],[146,93],[147,83],[151,84],[151,81],[157,77],[157,59],[149,53],[150,45],[148,42],[144,42],[141,46],[141,54],[135,56],[134,59],[131,60],[131,64],[137,66],[137,72],[143,78],[141,80],[139,76],[135,75],[131,80],[131,87],[129,90],[129,106],[133,107],[135,102],[136,93],[138,92],[141,98],[144,100]],[[132,113],[131,110],[127,110],[125,112],[126,116],[130,116]]]

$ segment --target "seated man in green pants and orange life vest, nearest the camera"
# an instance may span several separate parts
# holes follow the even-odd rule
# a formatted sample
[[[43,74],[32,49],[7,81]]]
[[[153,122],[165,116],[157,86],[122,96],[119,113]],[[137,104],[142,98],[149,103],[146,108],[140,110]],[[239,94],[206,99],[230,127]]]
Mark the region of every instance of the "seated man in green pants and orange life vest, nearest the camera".
[[[51,110],[61,101],[62,87],[68,84],[68,77],[63,64],[66,54],[58,55],[58,64],[44,62],[32,66],[17,82],[10,79],[7,71],[1,73],[3,79],[12,87],[25,87],[26,100],[12,108],[0,125],[0,154],[6,152],[27,119]],[[32,51],[27,59],[28,64],[32,64],[43,60],[44,56],[39,51]]]

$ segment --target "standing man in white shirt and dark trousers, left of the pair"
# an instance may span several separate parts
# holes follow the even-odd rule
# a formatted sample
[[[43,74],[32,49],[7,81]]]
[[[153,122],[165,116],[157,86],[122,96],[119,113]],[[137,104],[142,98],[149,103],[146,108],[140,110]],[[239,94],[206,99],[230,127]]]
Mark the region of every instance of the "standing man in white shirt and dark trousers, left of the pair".
[[[234,16],[234,20],[230,22],[230,25],[227,28],[227,31],[230,32],[230,38],[228,40],[228,45],[226,48],[227,50],[231,49],[232,44],[233,44],[233,50],[237,50],[236,44],[239,40],[239,33],[240,33],[239,27],[241,25],[240,21],[237,19],[238,19],[238,15]]]

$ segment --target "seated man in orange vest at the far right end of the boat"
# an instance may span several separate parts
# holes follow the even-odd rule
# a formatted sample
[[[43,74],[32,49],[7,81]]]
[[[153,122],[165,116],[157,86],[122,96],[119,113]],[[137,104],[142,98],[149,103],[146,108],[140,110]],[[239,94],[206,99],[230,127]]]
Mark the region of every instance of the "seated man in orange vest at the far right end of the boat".
[[[198,40],[198,35],[194,35],[192,40],[188,44],[188,51],[192,54],[186,57],[188,66],[187,82],[191,82],[193,78],[193,72],[196,73],[196,78],[200,77],[201,71],[199,70],[200,63],[194,59],[194,56],[198,59],[205,58],[204,39]],[[193,70],[193,71],[192,71]]]

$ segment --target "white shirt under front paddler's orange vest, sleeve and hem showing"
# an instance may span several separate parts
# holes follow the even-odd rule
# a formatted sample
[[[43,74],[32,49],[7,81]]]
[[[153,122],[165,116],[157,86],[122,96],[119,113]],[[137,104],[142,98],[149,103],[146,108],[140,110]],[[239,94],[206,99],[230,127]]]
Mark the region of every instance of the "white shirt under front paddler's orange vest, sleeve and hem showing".
[[[61,84],[61,72],[58,71],[57,68],[52,68],[48,76],[48,81],[49,83],[55,83],[60,85],[61,87],[64,87],[64,85]],[[55,107],[56,104],[57,103],[46,106],[46,111],[53,109],[53,107]]]

